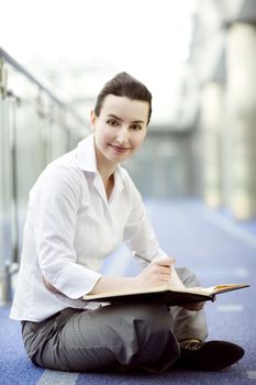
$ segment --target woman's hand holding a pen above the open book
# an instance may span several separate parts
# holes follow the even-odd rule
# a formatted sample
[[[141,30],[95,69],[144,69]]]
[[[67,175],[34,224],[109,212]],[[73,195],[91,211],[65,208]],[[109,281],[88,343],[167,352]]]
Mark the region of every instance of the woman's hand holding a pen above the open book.
[[[175,258],[159,256],[154,258],[137,276],[135,286],[140,288],[166,285],[170,280]]]

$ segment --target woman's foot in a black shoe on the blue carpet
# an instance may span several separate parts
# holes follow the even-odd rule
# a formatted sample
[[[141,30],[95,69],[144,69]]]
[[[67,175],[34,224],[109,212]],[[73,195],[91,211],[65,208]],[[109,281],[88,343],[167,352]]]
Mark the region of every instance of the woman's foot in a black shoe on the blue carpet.
[[[174,367],[213,372],[230,367],[244,355],[244,349],[226,341],[196,342],[180,346]]]

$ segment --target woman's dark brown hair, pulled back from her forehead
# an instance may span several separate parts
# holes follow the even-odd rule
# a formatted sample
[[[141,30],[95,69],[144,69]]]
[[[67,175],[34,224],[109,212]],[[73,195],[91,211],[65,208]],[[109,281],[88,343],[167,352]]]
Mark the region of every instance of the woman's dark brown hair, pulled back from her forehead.
[[[101,108],[103,106],[104,98],[108,95],[114,95],[120,97],[126,97],[131,100],[146,101],[148,103],[148,119],[149,123],[152,116],[152,94],[144,86],[143,82],[138,81],[127,73],[120,73],[109,80],[96,100],[94,113],[97,117],[100,116]]]

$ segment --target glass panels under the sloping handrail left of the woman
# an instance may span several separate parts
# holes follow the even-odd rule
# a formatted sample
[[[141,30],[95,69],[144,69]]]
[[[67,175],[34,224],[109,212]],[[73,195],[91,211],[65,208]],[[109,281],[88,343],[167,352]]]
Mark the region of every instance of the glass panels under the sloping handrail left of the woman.
[[[19,264],[29,191],[47,163],[89,132],[69,106],[20,68],[5,61],[8,84],[0,64],[0,301],[7,301],[7,265]]]

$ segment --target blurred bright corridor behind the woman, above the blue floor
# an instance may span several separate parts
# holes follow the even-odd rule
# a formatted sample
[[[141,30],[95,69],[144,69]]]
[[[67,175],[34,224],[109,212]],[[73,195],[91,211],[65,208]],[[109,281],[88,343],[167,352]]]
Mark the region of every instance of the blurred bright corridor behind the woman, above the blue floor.
[[[153,92],[148,136],[124,164],[145,201],[200,201],[256,237],[255,0],[9,0],[0,22],[1,304],[11,302],[32,185],[90,133],[96,96],[122,70]]]

